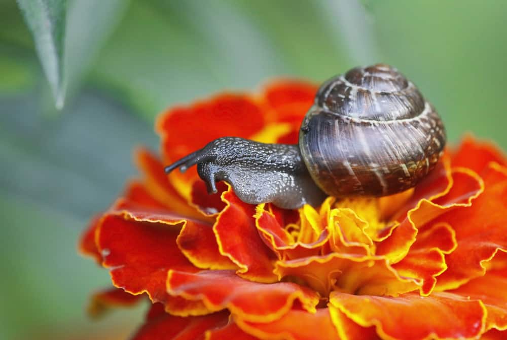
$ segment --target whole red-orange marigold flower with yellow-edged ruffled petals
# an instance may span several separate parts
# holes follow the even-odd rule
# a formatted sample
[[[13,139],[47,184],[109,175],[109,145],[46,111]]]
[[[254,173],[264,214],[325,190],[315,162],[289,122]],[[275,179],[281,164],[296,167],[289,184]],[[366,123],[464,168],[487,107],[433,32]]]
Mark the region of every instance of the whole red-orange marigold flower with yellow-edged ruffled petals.
[[[153,305],[135,339],[507,338],[507,158],[466,137],[416,188],[248,205],[163,165],[226,135],[297,143],[316,86],[280,81],[160,116],[161,158],[97,216],[80,248],[117,288],[90,311]]]

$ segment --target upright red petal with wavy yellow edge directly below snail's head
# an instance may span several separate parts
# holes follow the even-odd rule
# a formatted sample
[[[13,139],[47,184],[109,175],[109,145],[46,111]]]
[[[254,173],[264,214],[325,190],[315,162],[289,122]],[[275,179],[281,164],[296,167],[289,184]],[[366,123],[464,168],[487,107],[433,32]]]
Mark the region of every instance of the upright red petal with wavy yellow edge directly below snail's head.
[[[222,200],[227,207],[213,226],[221,254],[240,267],[238,275],[258,282],[275,282],[275,255],[257,231],[253,217],[256,207],[241,201],[231,187],[222,194]]]

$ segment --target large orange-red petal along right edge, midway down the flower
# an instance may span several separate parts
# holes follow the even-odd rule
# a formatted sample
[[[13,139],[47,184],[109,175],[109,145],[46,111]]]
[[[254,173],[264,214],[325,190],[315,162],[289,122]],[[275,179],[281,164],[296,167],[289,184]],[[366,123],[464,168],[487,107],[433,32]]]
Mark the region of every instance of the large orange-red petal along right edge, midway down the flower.
[[[458,246],[446,255],[448,269],[439,277],[438,288],[456,288],[484,275],[483,261],[498,250],[507,250],[507,169],[491,163],[484,172],[484,192],[471,207],[440,216],[456,231]]]

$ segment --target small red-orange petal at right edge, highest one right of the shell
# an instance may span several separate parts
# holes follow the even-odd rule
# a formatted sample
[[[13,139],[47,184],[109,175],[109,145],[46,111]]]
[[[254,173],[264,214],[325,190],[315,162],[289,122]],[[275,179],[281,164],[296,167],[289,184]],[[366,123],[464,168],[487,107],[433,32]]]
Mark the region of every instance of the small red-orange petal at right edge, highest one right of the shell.
[[[496,145],[490,142],[479,142],[472,135],[463,138],[452,156],[453,166],[467,167],[478,174],[486,170],[490,162],[507,166],[507,157]]]

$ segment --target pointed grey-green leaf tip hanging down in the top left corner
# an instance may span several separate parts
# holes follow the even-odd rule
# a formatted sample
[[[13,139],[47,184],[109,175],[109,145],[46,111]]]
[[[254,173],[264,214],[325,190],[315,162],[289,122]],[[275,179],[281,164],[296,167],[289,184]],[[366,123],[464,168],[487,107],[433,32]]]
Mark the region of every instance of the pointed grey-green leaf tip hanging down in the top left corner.
[[[63,42],[65,36],[66,0],[18,0],[33,35],[56,107],[63,107]]]

